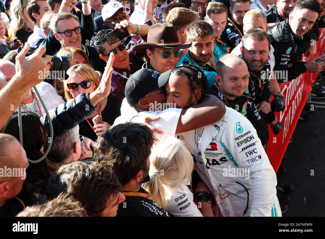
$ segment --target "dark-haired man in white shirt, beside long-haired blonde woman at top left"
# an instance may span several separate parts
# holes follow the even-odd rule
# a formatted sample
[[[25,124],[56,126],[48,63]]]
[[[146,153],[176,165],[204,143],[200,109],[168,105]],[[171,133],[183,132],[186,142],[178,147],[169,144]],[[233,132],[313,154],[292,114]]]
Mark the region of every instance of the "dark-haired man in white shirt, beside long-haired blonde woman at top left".
[[[44,14],[50,10],[50,5],[46,0],[32,0],[27,5],[28,16],[32,19],[34,25],[34,32],[28,37],[27,42],[31,47],[35,47],[35,43],[39,38],[44,38],[46,35],[41,30],[41,19]]]

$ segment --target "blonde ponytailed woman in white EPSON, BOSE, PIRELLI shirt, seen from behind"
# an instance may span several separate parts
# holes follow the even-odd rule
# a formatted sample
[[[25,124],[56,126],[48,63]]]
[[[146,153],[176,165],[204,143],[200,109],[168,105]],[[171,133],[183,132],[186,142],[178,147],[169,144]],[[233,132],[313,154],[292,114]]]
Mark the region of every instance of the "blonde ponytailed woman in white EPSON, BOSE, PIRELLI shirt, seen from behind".
[[[193,202],[190,184],[194,162],[188,147],[182,141],[170,136],[163,137],[153,147],[150,158],[150,170],[154,173],[149,182],[145,183],[145,190],[151,195],[149,199],[174,216],[213,216],[210,203],[201,202],[200,212]],[[201,191],[211,192],[200,182],[194,192]]]

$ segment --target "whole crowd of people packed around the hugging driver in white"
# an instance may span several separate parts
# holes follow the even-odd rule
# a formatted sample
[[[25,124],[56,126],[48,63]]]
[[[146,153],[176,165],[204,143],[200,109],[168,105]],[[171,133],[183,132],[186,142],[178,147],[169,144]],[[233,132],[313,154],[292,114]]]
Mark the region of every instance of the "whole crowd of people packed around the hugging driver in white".
[[[325,0],[0,1],[0,216],[287,210],[268,126]]]

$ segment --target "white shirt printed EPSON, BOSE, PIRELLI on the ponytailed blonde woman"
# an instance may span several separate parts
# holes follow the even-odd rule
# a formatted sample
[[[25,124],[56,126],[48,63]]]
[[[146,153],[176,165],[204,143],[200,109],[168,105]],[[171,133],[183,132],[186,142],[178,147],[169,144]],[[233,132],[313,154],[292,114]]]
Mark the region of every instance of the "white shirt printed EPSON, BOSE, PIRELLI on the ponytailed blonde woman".
[[[189,182],[182,183],[179,188],[163,185],[169,196],[166,210],[175,217],[203,217],[188,186]]]

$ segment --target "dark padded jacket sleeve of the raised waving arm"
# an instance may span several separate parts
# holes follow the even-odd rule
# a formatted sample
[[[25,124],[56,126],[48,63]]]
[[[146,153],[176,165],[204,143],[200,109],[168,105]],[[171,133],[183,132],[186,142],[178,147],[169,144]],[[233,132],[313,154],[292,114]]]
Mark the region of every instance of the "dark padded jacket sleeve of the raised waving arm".
[[[48,111],[53,125],[53,142],[84,121],[89,115],[95,112],[95,109],[96,107],[89,101],[88,94],[81,93],[76,98],[68,100],[55,109]],[[41,117],[41,122],[46,126],[49,137],[50,126],[46,114]],[[46,141],[44,151],[48,147],[48,144],[49,142]]]

